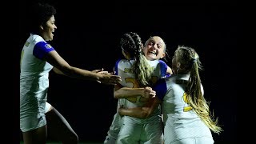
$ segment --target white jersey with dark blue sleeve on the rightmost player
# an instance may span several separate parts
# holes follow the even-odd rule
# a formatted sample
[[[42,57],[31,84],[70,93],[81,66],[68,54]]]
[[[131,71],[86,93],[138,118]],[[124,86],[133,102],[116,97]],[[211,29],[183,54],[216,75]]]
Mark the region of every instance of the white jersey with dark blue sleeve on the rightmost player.
[[[186,82],[189,74],[162,78],[154,86],[157,97],[162,100],[164,141],[170,143],[185,138],[212,138],[210,129],[186,103]],[[202,94],[203,94],[203,87]]]

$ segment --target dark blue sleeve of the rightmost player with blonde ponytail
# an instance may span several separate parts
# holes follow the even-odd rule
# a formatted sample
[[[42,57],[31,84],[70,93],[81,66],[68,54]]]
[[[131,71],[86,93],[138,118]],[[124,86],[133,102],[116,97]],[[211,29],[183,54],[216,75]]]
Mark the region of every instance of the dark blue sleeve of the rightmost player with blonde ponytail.
[[[164,78],[160,78],[153,86],[153,90],[156,91],[157,97],[162,101],[167,91],[166,80]]]

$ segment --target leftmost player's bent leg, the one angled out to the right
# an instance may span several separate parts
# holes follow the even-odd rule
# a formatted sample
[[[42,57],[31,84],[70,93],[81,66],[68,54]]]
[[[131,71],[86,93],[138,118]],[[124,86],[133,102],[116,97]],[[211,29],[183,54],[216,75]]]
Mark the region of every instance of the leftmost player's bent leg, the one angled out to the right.
[[[48,136],[63,144],[78,144],[78,135],[54,107],[46,113]]]

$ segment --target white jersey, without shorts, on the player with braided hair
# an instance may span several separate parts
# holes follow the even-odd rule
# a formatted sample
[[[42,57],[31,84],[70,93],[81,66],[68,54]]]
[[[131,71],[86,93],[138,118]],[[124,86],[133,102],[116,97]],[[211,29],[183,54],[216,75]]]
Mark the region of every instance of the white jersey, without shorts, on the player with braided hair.
[[[167,65],[162,60],[154,60],[154,61],[148,61],[150,63],[150,66],[154,68],[154,72],[152,74],[153,77],[153,83],[157,82],[159,78],[164,78],[166,76],[166,70]],[[119,82],[124,87],[130,87],[130,88],[138,88],[138,81],[135,79],[135,75],[131,73],[131,67],[134,63],[134,60],[126,60],[122,59],[116,62],[115,65],[115,72],[117,75],[121,76],[122,81]],[[138,107],[143,106],[145,104],[145,98],[142,98],[140,95],[138,97],[134,98],[119,98],[118,104],[122,104],[127,108],[132,107]],[[128,121],[136,122],[136,123],[147,123],[149,121],[152,121],[154,116],[159,116],[161,114],[161,109],[156,109],[154,111],[154,114],[152,114],[152,117],[150,118],[132,118],[128,116],[124,116],[124,119],[127,119]]]

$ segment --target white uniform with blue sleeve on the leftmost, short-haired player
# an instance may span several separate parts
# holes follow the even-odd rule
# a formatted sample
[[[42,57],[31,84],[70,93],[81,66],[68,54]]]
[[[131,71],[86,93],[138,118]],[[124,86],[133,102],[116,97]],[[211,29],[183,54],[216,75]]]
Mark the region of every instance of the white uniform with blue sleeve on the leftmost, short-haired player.
[[[42,58],[54,50],[41,36],[30,34],[22,49],[20,72],[20,128],[28,131],[46,125],[45,106],[49,71]]]

